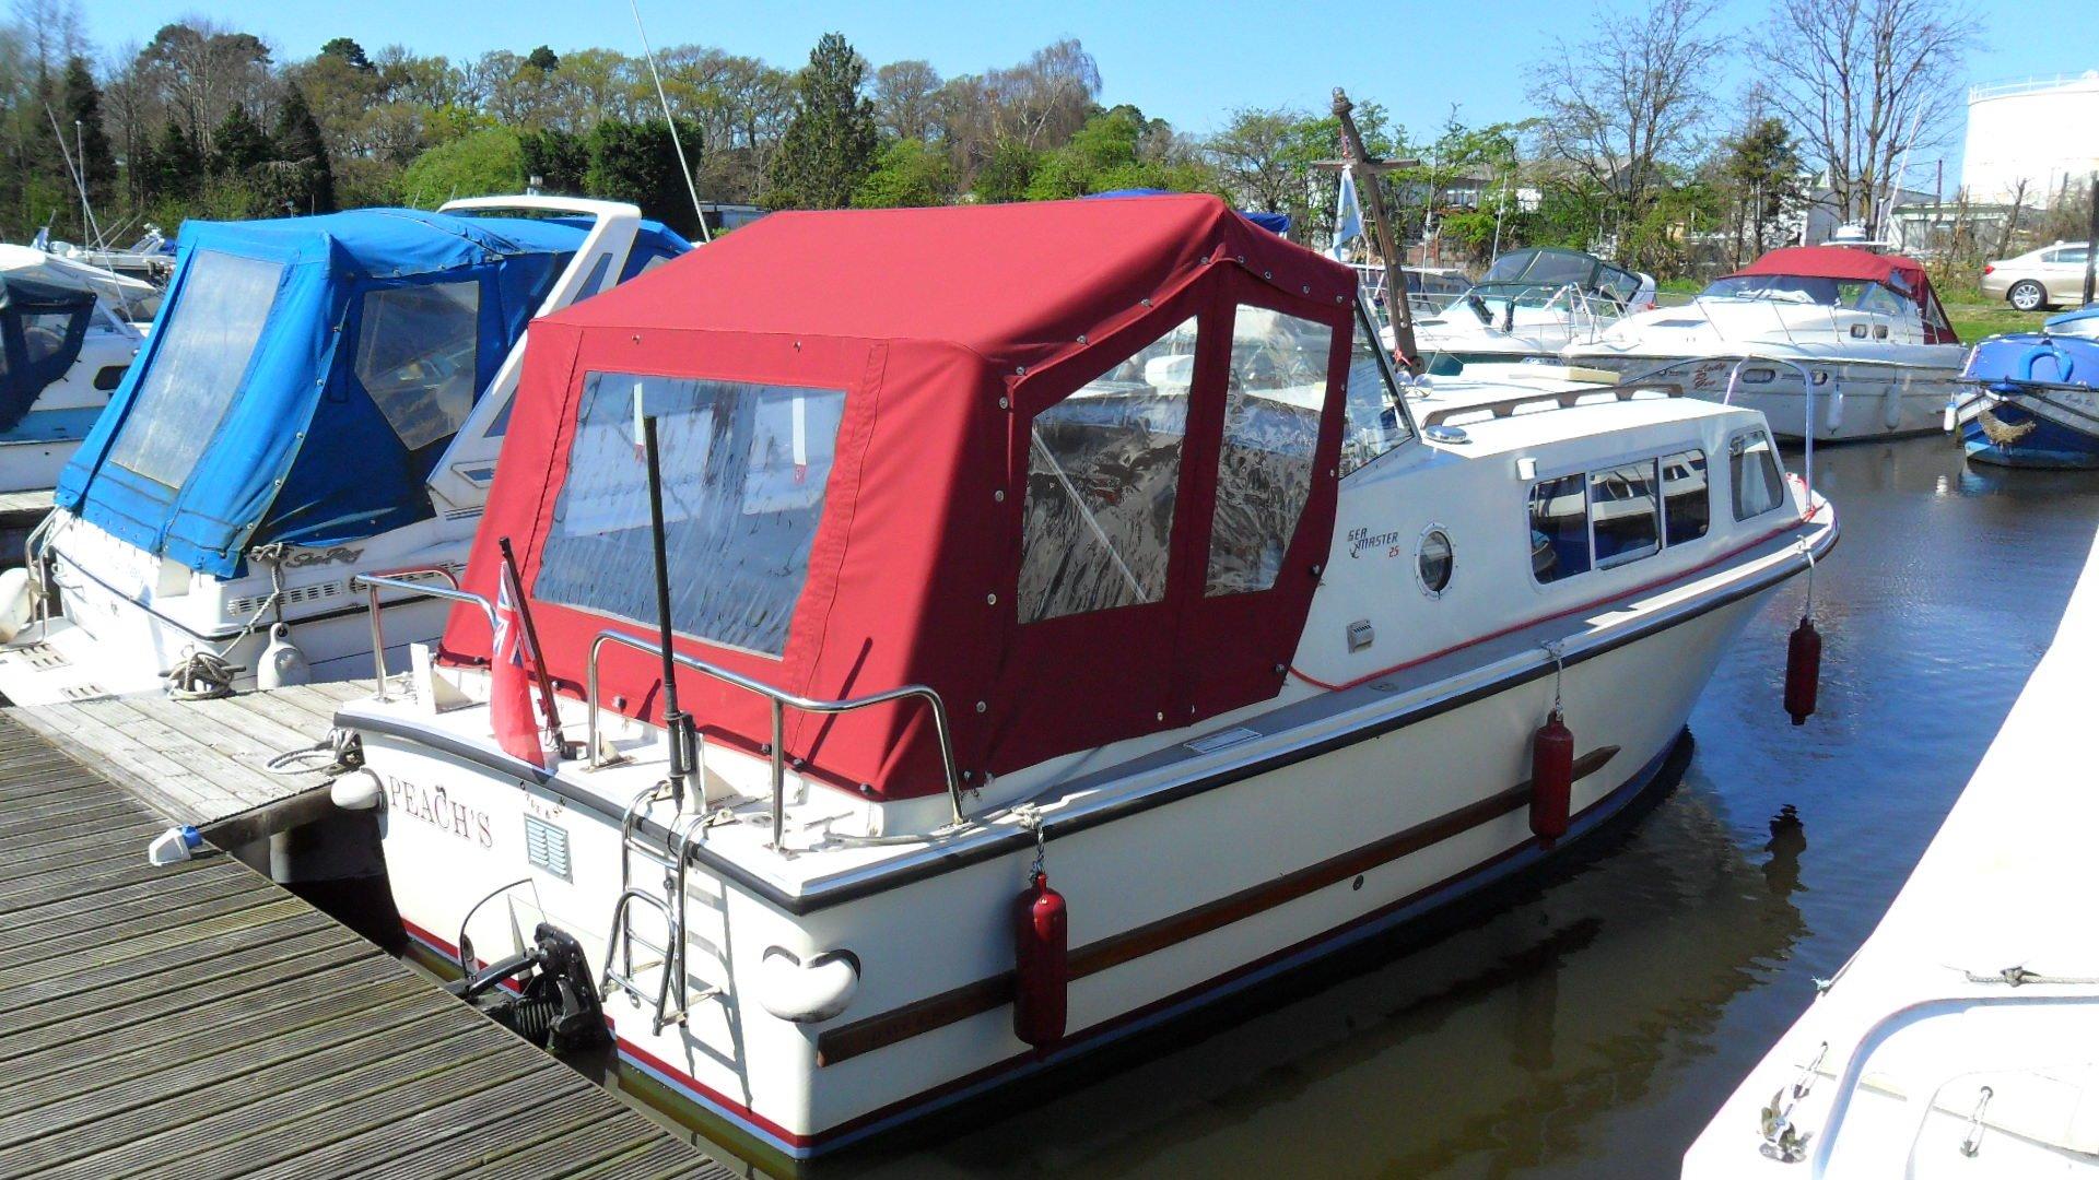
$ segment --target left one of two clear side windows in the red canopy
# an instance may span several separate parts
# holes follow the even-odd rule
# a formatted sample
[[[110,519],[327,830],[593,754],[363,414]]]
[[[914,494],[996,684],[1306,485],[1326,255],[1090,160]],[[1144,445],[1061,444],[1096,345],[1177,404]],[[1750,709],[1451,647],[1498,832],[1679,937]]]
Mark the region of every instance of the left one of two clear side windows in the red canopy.
[[[1194,355],[1190,317],[1029,424],[1022,624],[1165,598]]]

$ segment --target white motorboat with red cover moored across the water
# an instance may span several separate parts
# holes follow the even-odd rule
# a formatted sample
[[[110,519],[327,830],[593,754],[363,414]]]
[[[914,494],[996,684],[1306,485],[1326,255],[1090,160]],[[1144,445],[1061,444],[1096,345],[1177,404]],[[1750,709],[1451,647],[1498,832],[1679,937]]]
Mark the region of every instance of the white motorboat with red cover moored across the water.
[[[1568,363],[1761,409],[1786,439],[1893,439],[1942,428],[1967,351],[1914,260],[1788,246],[1688,307],[1629,315]]]

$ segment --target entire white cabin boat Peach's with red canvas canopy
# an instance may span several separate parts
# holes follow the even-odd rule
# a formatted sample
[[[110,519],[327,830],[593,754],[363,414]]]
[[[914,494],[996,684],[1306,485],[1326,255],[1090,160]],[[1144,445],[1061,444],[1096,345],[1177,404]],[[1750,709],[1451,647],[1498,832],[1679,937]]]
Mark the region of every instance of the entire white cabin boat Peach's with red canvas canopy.
[[[1837,521],[1751,409],[1375,340],[1215,197],[772,214],[533,328],[336,798],[462,991],[791,1157],[1469,897]]]

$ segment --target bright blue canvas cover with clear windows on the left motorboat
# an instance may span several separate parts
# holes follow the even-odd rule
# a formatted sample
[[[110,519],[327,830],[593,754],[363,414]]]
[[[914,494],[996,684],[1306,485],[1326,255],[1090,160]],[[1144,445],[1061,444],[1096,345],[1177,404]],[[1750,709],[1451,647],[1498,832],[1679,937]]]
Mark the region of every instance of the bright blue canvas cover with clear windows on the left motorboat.
[[[220,577],[254,546],[430,517],[458,420],[586,235],[588,218],[393,208],[187,223],[147,351],[59,477],[59,508]],[[684,250],[644,223],[619,279]]]

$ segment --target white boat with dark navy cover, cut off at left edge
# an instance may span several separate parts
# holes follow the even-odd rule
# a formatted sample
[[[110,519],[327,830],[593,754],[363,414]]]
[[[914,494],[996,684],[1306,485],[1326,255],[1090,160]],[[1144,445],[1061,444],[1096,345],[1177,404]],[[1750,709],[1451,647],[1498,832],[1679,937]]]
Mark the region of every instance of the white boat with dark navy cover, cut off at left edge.
[[[157,304],[160,292],[139,279],[0,246],[0,493],[59,483],[145,346]]]

